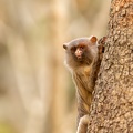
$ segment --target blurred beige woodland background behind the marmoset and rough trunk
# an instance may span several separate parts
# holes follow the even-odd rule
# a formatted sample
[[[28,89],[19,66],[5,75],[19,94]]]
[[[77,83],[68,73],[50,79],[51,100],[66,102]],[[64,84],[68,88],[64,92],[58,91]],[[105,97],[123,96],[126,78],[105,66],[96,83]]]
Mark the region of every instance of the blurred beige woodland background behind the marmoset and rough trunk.
[[[0,0],[0,133],[75,133],[62,44],[106,34],[110,0]]]

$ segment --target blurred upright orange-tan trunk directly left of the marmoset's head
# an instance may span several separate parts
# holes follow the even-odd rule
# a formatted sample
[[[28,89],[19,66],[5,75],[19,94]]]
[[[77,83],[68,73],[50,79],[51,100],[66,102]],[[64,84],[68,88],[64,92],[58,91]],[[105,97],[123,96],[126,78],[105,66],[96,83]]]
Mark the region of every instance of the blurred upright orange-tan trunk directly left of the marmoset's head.
[[[68,12],[70,0],[52,0],[52,70],[53,70],[53,91],[51,103],[51,133],[68,133],[69,129],[64,131],[64,126],[68,123],[66,116],[66,84],[65,84],[65,72],[63,65],[63,49],[62,45],[66,40],[66,24],[68,24]]]

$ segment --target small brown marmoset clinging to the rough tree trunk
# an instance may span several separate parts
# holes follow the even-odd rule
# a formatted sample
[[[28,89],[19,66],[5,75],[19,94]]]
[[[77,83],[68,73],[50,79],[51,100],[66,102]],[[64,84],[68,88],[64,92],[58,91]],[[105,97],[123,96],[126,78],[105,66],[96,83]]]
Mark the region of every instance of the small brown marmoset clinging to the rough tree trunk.
[[[79,38],[63,44],[64,63],[70,70],[76,88],[78,98],[78,132],[85,133],[88,114],[92,100],[92,91],[101,64],[102,47],[98,45],[96,37]],[[81,119],[81,120],[80,120]]]

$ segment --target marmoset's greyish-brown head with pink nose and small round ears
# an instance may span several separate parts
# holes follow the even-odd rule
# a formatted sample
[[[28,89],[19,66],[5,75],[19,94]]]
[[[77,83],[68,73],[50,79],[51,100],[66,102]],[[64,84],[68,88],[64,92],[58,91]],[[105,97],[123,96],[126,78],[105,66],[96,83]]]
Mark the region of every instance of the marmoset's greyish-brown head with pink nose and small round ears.
[[[90,65],[98,55],[96,37],[79,38],[64,43],[65,64],[69,69],[75,69],[81,65]]]

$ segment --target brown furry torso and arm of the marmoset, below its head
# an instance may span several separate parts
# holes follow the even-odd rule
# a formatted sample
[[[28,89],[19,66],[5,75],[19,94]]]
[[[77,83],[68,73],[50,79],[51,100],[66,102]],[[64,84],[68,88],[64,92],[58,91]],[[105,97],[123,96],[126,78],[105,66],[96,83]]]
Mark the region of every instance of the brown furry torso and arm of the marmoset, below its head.
[[[82,66],[80,71],[74,71],[72,73],[78,95],[78,123],[80,117],[89,114],[92,100],[92,91],[94,89],[95,80],[98,78],[100,63],[101,60],[99,60],[99,57],[96,57],[90,65]]]

